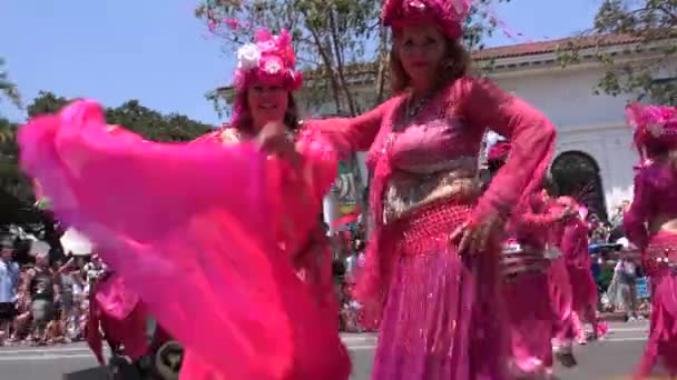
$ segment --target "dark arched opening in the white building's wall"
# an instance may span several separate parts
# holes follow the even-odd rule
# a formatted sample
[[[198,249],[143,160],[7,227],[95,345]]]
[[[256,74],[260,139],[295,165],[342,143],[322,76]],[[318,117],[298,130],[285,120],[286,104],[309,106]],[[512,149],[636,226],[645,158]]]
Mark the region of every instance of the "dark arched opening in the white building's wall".
[[[590,213],[607,220],[605,191],[599,166],[590,154],[581,151],[560,153],[550,169],[558,196],[571,196],[585,203]]]

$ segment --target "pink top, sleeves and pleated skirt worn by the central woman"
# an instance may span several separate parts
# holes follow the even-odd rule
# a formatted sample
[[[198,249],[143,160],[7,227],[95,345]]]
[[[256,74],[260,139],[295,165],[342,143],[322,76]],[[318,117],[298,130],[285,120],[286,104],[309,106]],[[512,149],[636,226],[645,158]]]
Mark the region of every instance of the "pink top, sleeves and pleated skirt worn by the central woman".
[[[354,119],[318,122],[341,149],[370,150],[374,220],[356,296],[366,321],[381,321],[374,379],[501,379],[507,352],[498,237],[475,260],[461,260],[444,241],[463,221],[474,226],[507,214],[540,186],[555,127],[491,82],[462,78],[431,99],[403,131],[391,134],[406,97],[396,96]],[[489,126],[508,137],[513,150],[477,204],[444,200],[383,226],[383,191],[394,170],[432,168],[463,157],[477,160]]]

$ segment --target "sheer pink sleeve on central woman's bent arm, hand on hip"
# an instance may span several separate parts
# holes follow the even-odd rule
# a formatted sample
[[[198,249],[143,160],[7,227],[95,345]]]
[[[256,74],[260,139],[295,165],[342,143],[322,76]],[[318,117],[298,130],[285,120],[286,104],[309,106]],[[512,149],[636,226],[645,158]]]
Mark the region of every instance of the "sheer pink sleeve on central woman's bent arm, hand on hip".
[[[478,128],[490,128],[510,139],[512,151],[491,180],[471,218],[508,216],[540,187],[555,150],[555,126],[537,109],[485,79],[461,80],[461,112]]]

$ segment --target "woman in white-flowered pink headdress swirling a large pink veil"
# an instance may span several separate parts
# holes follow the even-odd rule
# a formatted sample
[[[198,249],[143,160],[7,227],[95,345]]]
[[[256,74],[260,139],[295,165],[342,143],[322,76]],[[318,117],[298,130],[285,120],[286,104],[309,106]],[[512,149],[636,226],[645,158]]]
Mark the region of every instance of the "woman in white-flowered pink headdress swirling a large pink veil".
[[[183,379],[350,376],[318,224],[337,162],[301,128],[294,66],[287,32],[258,32],[233,128],[187,144],[107,126],[88,100],[21,129],[22,168],[186,348]]]

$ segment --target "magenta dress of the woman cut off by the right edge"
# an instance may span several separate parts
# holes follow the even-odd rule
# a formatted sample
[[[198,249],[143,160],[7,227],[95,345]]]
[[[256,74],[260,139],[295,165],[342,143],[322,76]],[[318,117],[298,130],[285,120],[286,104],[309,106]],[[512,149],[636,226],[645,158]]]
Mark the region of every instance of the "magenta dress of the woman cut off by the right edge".
[[[667,163],[649,162],[635,177],[635,199],[624,216],[628,239],[642,250],[642,263],[651,280],[651,327],[639,377],[651,373],[659,357],[677,373],[677,232],[650,233],[647,224],[658,218],[677,219],[677,173]]]

